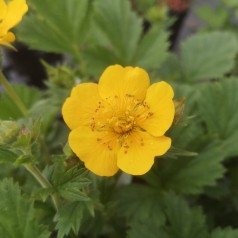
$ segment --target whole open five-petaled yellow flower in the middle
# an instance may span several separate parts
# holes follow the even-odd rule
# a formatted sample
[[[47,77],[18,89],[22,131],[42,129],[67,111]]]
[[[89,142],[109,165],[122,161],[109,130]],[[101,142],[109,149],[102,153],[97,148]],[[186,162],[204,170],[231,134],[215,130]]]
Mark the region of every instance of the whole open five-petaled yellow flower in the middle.
[[[69,145],[93,173],[112,176],[120,168],[141,175],[170,148],[164,133],[174,118],[173,89],[163,81],[149,84],[145,70],[113,65],[98,85],[79,84],[66,99]]]

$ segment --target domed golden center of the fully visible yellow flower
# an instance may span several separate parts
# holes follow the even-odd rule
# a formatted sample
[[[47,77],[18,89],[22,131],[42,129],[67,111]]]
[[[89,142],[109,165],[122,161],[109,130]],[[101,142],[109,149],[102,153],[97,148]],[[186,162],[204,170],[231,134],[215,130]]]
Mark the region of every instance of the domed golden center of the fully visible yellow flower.
[[[135,118],[129,112],[120,116],[114,116],[110,120],[112,129],[117,133],[126,133],[133,129],[135,125]]]

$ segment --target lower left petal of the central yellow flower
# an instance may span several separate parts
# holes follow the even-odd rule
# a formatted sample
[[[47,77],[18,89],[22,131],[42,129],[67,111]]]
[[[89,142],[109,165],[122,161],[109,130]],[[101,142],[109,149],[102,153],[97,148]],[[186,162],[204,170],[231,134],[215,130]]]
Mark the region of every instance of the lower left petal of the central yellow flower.
[[[93,173],[112,176],[118,171],[118,145],[114,134],[79,127],[70,133],[69,145]]]

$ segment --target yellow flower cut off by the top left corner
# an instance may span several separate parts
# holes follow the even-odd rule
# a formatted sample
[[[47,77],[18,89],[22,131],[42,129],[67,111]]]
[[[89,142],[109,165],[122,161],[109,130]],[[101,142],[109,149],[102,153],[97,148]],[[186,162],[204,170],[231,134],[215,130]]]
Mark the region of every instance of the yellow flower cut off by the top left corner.
[[[15,35],[9,30],[17,25],[28,6],[25,0],[0,0],[0,45],[10,46],[15,40]]]

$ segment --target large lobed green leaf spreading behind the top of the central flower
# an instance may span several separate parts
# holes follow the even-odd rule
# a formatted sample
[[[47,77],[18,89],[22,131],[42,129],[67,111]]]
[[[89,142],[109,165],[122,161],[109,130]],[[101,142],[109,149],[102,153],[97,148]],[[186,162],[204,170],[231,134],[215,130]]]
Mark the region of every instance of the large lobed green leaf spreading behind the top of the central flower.
[[[143,34],[129,1],[31,0],[31,6],[19,38],[33,49],[70,54],[84,77],[116,63],[155,69],[167,57],[168,33],[153,27]]]

